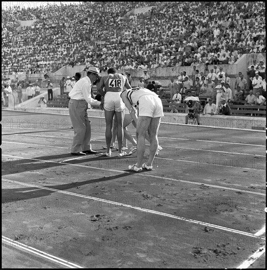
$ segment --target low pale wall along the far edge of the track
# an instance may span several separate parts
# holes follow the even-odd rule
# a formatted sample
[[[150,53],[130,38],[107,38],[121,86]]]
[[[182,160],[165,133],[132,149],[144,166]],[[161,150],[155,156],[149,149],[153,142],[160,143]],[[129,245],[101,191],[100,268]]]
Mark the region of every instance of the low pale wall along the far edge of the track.
[[[36,113],[52,113],[69,115],[68,108],[16,108],[16,110],[36,112]],[[104,111],[100,109],[88,109],[88,116],[105,118]],[[185,124],[186,113],[164,113],[161,119],[162,124],[183,125]],[[253,130],[264,132],[266,127],[266,118],[264,117],[245,117],[245,116],[226,116],[226,115],[203,115],[200,114],[201,126],[207,128],[221,129],[238,129],[238,130]]]

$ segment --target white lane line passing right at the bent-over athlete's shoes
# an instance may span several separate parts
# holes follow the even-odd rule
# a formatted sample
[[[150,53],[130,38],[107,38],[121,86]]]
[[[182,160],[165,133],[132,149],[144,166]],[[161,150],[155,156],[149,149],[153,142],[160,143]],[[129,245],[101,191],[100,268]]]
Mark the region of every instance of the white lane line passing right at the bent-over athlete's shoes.
[[[46,161],[46,160],[40,160],[40,159],[31,159],[31,158],[24,158],[24,157],[17,157],[17,156],[11,156],[11,155],[2,155],[2,156],[6,156],[6,157],[11,157],[11,158],[15,158],[15,159],[26,159],[26,160],[33,160],[33,161],[39,161],[39,162],[47,162],[47,163],[56,163],[56,164],[66,164],[68,166],[75,166],[75,167],[81,167],[81,168],[90,168],[90,169],[99,169],[99,170],[104,170],[104,171],[111,171],[111,172],[119,172],[119,173],[128,173],[128,174],[133,174],[132,172],[127,172],[127,171],[121,171],[121,170],[113,170],[113,169],[105,169],[105,168],[99,168],[99,167],[93,167],[93,166],[85,166],[85,165],[81,165],[81,164],[72,164],[72,163],[59,163],[59,162],[53,162],[53,161]],[[204,185],[204,186],[208,186],[211,188],[216,188],[216,189],[228,189],[228,190],[232,190],[232,191],[239,191],[239,192],[246,192],[246,193],[250,193],[250,194],[257,194],[257,195],[263,195],[266,196],[266,194],[264,193],[260,193],[260,192],[255,192],[255,191],[250,191],[250,190],[243,190],[243,189],[234,189],[234,188],[228,188],[228,187],[222,187],[222,186],[215,186],[215,185],[211,185],[211,184],[206,184],[206,183],[198,183],[198,182],[193,182],[193,181],[186,181],[186,180],[180,180],[180,179],[174,179],[174,178],[168,178],[168,177],[163,177],[163,176],[157,176],[157,175],[151,175],[151,174],[141,174],[138,173],[138,176],[144,176],[144,177],[152,177],[152,178],[158,178],[160,180],[164,179],[164,180],[170,180],[170,181],[175,181],[175,182],[182,182],[182,183],[188,183],[188,184],[193,184],[193,185]]]

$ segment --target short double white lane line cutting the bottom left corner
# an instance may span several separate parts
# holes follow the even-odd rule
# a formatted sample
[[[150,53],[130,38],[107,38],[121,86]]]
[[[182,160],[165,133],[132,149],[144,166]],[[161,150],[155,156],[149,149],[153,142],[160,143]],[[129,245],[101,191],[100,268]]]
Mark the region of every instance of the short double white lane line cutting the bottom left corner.
[[[12,240],[10,238],[7,238],[5,236],[2,236],[2,242],[8,243],[10,246],[17,246],[17,247],[19,247],[21,249],[27,250],[27,251],[29,251],[29,252],[31,252],[33,254],[36,254],[36,255],[38,255],[40,257],[44,257],[44,258],[46,258],[46,259],[48,259],[48,260],[50,260],[52,262],[61,264],[61,265],[66,266],[68,268],[83,268],[83,267],[81,267],[79,265],[76,265],[76,264],[73,264],[71,262],[65,261],[65,260],[63,260],[61,258],[55,257],[55,256],[53,256],[53,255],[51,255],[49,253],[46,253],[46,252],[41,251],[39,249],[33,248],[31,246],[28,246],[28,245],[26,245],[24,243],[14,241],[14,240]]]

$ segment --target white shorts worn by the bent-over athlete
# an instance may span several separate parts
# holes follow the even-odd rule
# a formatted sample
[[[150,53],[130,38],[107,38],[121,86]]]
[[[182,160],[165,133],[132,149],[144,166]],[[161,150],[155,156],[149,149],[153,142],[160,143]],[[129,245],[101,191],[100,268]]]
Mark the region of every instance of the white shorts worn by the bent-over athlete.
[[[137,106],[138,116],[149,116],[152,118],[164,116],[162,102],[159,97],[152,95],[142,96],[138,100]]]

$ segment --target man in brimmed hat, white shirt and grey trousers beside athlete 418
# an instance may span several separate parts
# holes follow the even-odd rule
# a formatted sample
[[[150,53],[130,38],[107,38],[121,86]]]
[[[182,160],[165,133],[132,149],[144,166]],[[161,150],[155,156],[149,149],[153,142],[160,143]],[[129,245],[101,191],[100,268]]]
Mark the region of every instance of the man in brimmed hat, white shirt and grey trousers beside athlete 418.
[[[77,81],[69,93],[69,113],[74,130],[71,154],[84,156],[95,154],[91,146],[91,121],[88,119],[88,103],[99,106],[100,101],[92,97],[91,89],[100,78],[100,70],[89,67],[86,77]]]

